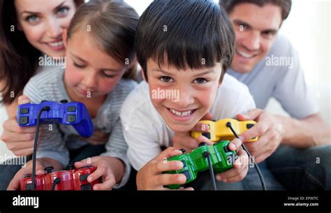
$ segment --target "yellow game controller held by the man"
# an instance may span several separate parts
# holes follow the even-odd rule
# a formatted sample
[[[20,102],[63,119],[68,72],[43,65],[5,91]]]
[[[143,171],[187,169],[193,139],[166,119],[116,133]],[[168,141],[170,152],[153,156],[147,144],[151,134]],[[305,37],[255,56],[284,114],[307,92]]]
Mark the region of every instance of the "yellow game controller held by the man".
[[[239,122],[236,119],[220,119],[217,122],[204,120],[200,122],[208,125],[209,131],[207,133],[193,131],[191,132],[191,136],[198,139],[200,135],[204,135],[206,138],[212,140],[213,142],[218,142],[219,140],[235,139],[235,135],[233,135],[233,132],[230,130],[230,128],[228,128],[228,126],[226,126],[226,123],[228,122],[231,123],[231,126],[233,126],[233,129],[235,130],[237,135],[244,133],[244,131],[247,131],[249,128],[253,127],[256,124],[256,122],[254,121]],[[206,128],[204,126],[202,127]],[[256,140],[258,140],[258,137],[252,138],[251,140],[247,140],[245,142],[255,142]]]

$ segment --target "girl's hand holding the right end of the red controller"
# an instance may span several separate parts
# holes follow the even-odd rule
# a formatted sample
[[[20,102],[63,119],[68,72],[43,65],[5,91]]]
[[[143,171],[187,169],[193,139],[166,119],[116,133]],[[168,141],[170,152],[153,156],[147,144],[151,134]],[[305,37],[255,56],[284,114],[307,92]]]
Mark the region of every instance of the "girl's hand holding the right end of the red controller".
[[[96,167],[96,170],[87,177],[88,182],[102,178],[102,183],[95,184],[93,190],[112,190],[112,187],[122,179],[125,170],[124,163],[112,156],[95,156],[75,163],[76,168],[82,166]]]

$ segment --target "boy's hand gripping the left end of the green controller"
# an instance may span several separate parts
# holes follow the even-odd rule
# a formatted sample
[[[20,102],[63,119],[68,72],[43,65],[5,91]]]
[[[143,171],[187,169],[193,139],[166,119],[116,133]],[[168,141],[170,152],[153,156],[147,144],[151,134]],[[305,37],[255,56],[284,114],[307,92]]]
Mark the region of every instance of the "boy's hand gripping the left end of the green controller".
[[[173,147],[168,147],[159,156],[146,163],[137,174],[138,190],[170,190],[163,186],[170,184],[184,184],[186,177],[183,174],[162,174],[165,171],[180,170],[183,168],[181,161],[167,161],[168,158],[182,154]],[[186,188],[185,190],[193,190]]]

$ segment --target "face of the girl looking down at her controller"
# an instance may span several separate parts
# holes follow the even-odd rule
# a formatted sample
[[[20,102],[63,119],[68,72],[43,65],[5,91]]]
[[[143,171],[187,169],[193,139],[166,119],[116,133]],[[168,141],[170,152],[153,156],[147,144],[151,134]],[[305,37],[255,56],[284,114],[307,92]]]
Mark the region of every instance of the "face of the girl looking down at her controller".
[[[101,51],[88,33],[75,32],[67,41],[64,82],[73,101],[105,98],[124,71],[124,62]]]

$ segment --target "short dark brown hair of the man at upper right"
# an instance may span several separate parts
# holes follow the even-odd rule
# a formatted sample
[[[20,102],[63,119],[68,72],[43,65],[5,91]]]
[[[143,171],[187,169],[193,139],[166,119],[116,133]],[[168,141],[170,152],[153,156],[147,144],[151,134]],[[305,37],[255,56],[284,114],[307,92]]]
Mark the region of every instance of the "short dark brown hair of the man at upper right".
[[[219,5],[222,6],[228,14],[230,14],[238,3],[254,3],[260,7],[271,3],[274,6],[281,8],[281,20],[284,21],[290,14],[292,0],[219,0]]]

